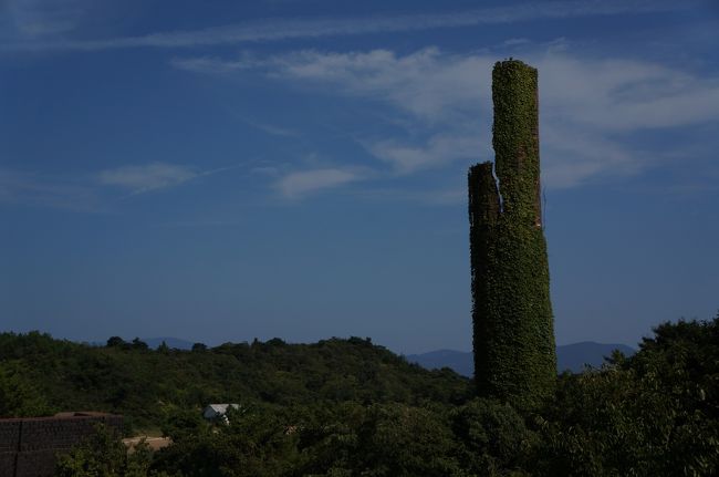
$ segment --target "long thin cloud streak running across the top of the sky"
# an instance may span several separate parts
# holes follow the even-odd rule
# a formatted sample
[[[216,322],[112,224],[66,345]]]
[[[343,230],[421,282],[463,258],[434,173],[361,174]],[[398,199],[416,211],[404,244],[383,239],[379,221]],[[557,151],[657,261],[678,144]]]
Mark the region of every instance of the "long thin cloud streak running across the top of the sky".
[[[268,42],[300,38],[373,34],[481,24],[514,23],[623,13],[654,13],[688,8],[684,2],[550,1],[475,9],[450,13],[428,12],[363,18],[269,19],[194,31],[158,32],[110,40],[24,42],[6,45],[10,50],[106,50],[124,48],[186,48],[213,44]]]

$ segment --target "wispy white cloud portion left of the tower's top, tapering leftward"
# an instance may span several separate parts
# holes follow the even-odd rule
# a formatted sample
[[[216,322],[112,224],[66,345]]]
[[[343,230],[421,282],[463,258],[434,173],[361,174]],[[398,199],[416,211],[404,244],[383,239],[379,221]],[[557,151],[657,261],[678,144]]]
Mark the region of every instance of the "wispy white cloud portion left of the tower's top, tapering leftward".
[[[174,64],[181,69],[188,69],[189,64],[192,65],[190,70],[207,73],[259,69],[278,80],[301,81],[305,85],[321,85],[323,91],[331,93],[390,103],[409,117],[409,123],[420,121],[423,127],[439,129],[413,143],[396,138],[362,141],[367,151],[399,174],[469,159],[482,151],[478,112],[482,110],[481,102],[488,102],[490,95],[489,89],[481,86],[490,82],[493,60],[488,56],[455,56],[428,48],[405,56],[387,50],[301,51],[263,60],[248,56],[227,62],[217,58],[189,59],[187,62],[176,60]],[[201,68],[197,68],[199,65]],[[408,124],[406,121],[399,123]],[[451,131],[446,131],[447,124],[462,127],[452,126]]]

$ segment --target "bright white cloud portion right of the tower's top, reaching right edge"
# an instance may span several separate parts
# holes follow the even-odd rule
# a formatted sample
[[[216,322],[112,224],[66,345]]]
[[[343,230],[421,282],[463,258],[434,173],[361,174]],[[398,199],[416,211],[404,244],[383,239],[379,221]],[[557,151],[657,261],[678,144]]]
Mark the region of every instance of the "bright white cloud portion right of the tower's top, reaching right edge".
[[[541,101],[552,121],[598,131],[674,127],[719,118],[719,79],[643,60],[536,59]]]

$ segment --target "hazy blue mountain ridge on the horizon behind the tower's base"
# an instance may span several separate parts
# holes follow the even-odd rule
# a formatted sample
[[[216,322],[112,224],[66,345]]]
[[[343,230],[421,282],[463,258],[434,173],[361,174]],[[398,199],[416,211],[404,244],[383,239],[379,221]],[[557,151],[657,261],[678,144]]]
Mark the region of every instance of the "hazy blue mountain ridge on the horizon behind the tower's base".
[[[598,367],[604,363],[604,356],[611,355],[614,350],[619,350],[626,355],[635,353],[635,350],[626,344],[594,343],[592,341],[565,344],[556,346],[556,367],[560,372],[569,370],[573,373],[582,372],[585,364]],[[429,370],[450,367],[465,376],[471,376],[473,372],[471,352],[438,350],[421,354],[408,354],[405,357],[407,361]]]

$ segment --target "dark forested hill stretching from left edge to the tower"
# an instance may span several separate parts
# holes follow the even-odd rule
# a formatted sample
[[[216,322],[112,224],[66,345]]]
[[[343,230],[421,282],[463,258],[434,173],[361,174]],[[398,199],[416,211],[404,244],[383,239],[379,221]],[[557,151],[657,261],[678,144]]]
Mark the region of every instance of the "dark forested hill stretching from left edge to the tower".
[[[0,415],[106,411],[136,428],[159,425],[173,408],[208,403],[459,404],[469,393],[467,379],[424,370],[358,338],[180,351],[150,350],[139,340],[90,346],[39,332],[2,333],[0,382]]]

